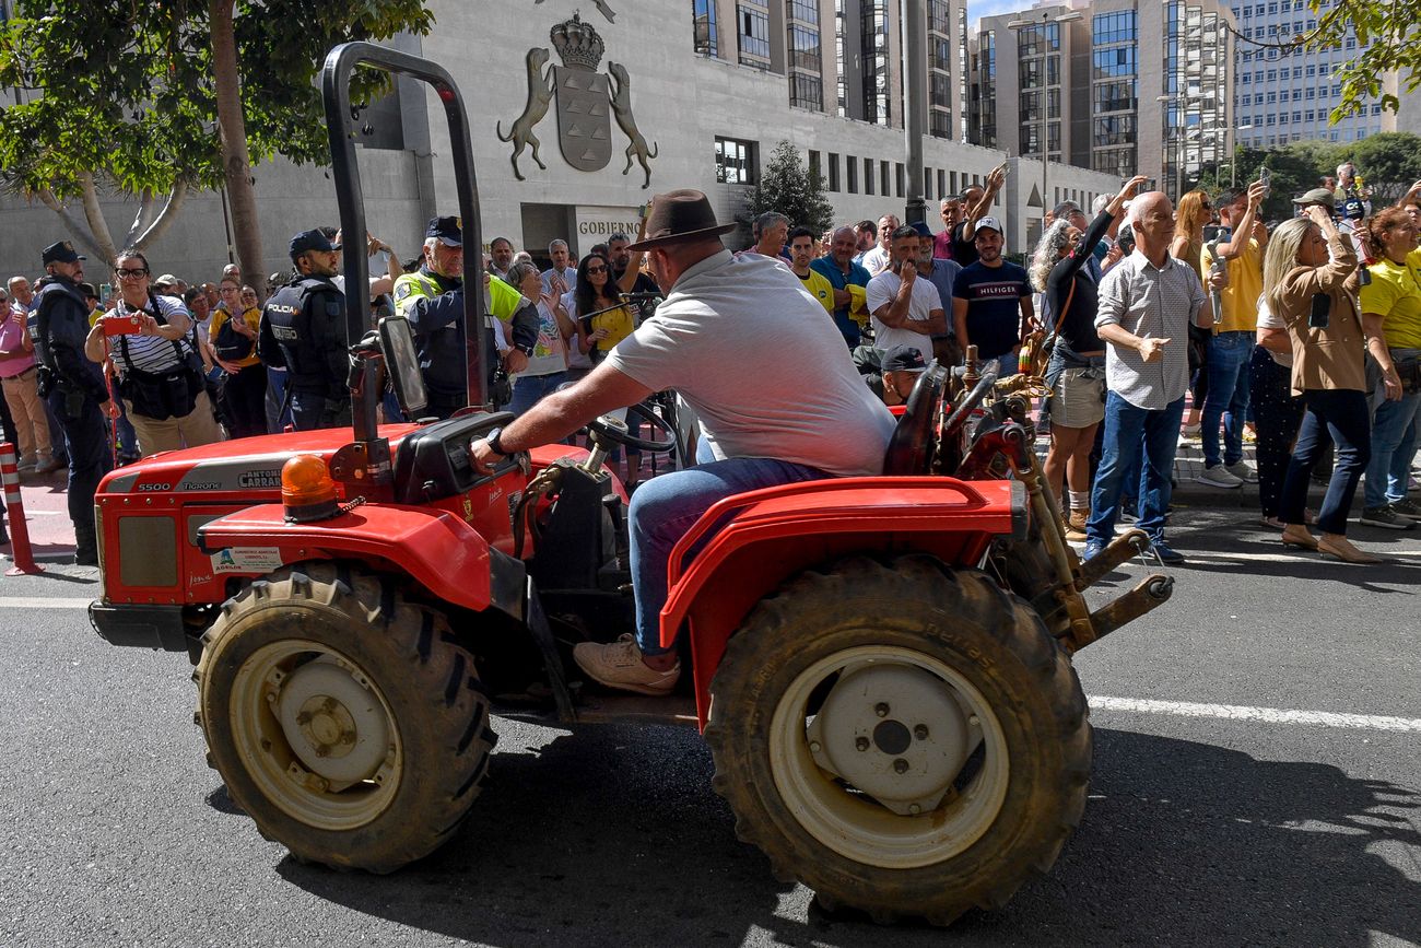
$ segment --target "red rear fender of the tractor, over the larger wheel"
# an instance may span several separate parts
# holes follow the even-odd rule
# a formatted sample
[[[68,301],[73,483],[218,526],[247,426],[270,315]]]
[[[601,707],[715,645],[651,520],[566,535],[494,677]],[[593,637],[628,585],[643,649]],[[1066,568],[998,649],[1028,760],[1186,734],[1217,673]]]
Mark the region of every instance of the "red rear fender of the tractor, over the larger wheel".
[[[661,644],[671,648],[686,630],[705,728],[726,642],[796,573],[864,553],[976,566],[992,540],[1026,539],[1027,524],[1019,480],[836,478],[726,497],[671,553]]]

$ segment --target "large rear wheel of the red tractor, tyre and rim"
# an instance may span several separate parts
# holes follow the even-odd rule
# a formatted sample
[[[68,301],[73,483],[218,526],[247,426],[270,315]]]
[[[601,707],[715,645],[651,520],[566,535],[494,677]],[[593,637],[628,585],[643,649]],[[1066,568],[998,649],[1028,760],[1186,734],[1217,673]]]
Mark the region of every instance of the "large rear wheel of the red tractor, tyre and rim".
[[[853,559],[760,603],[710,685],[715,787],[779,878],[949,924],[1080,822],[1086,696],[1040,617],[975,570]]]

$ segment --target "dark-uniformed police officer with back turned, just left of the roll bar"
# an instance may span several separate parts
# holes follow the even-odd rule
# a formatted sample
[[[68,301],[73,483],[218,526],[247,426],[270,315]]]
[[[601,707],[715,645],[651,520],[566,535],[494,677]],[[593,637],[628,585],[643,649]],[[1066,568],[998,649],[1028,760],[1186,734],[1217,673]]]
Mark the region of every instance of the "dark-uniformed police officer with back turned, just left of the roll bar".
[[[296,276],[261,310],[257,355],[269,367],[287,370],[286,398],[297,431],[351,424],[345,294],[331,281],[338,260],[320,230],[296,235]]]

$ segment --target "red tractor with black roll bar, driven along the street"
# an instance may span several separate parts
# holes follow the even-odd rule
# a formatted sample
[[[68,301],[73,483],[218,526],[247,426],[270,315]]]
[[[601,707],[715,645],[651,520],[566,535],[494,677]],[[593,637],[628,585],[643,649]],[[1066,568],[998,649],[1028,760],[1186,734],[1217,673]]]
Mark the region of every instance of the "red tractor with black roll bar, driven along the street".
[[[357,64],[433,85],[480,246],[453,81],[362,43],[334,50],[323,77],[344,232],[365,232]],[[480,286],[479,254],[465,260]],[[828,907],[946,924],[1052,866],[1091,763],[1070,657],[1171,581],[1087,607],[1081,590],[1142,534],[1076,559],[1020,392],[934,365],[884,476],[712,507],[672,554],[661,614],[692,669],[684,694],[597,694],[568,679],[568,652],[632,627],[625,496],[603,463],[625,428],[603,419],[591,451],[543,448],[483,476],[470,442],[507,414],[377,426],[382,374],[418,416],[419,372],[406,323],[365,333],[362,254],[345,267],[354,436],[158,455],[95,497],[91,620],[115,645],[189,654],[209,762],[263,836],[300,860],[396,870],[469,816],[490,715],[556,711],[698,725],[736,831]],[[473,405],[486,398],[480,296],[466,296]]]

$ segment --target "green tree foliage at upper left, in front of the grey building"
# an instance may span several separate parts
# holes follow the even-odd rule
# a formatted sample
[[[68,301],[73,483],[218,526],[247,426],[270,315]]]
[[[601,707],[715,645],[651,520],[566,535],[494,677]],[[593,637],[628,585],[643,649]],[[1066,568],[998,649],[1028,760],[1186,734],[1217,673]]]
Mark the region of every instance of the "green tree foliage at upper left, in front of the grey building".
[[[243,269],[260,274],[254,205],[239,200],[250,198],[247,155],[328,161],[315,84],[325,53],[431,24],[422,0],[16,0],[0,31],[0,85],[24,91],[0,109],[3,183],[112,260],[125,243],[156,239],[189,190],[226,181]],[[223,43],[236,51],[226,77],[240,90],[226,109],[234,117],[219,101],[213,47]],[[361,71],[354,98],[368,101],[384,82]],[[220,131],[233,128],[240,142]],[[122,242],[104,223],[101,192],[138,199]]]

